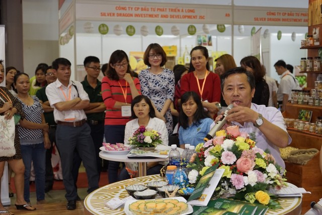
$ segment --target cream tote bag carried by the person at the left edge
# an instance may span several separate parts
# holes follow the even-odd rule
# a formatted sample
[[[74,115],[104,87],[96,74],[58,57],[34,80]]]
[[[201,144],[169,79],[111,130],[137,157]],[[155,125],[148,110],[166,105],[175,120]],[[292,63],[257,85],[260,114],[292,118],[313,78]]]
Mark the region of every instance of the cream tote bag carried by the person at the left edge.
[[[0,157],[12,157],[16,154],[15,149],[15,119],[5,119],[0,116]]]

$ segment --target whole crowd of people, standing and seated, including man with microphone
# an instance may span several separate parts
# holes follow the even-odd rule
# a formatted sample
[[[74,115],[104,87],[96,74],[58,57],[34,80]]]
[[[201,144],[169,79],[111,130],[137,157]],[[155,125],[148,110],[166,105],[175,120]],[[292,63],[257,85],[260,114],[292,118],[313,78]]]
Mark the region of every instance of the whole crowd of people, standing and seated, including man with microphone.
[[[277,88],[254,56],[244,57],[237,67],[233,57],[224,54],[216,59],[215,71],[209,68],[207,48],[196,46],[190,56],[189,68],[176,65],[172,71],[164,67],[167,55],[162,46],[152,43],[143,55],[147,68],[139,74],[131,70],[123,50],[114,51],[102,67],[98,57],[88,56],[82,82],[70,80],[71,63],[66,58],[55,59],[51,66],[39,64],[31,79],[12,66],[5,73],[0,62],[0,82],[6,79],[6,87],[0,88],[0,114],[6,119],[19,116],[16,154],[0,157],[0,176],[7,161],[15,173],[17,209],[36,209],[29,198],[33,172],[37,203],[45,203],[44,194],[53,186],[53,144],[61,159],[66,207],[72,210],[80,199],[76,181],[81,162],[89,181],[88,193],[99,187],[99,148],[104,138],[110,144],[128,144],[133,132],[144,125],[161,133],[166,146],[172,143],[169,139],[173,135],[181,148],[185,144],[196,146],[222,117],[220,109],[230,104],[233,108],[225,126],[238,125],[242,131],[254,132],[258,147],[269,149],[285,167],[279,148],[289,145],[291,138],[276,107],[278,101],[285,110],[291,90],[298,87],[286,63],[279,60],[274,65],[281,75]],[[104,78],[100,81],[101,71]],[[148,163],[147,174],[157,174],[165,165]],[[109,161],[109,183],[130,176],[133,174],[124,164]],[[0,210],[7,211],[1,202]]]

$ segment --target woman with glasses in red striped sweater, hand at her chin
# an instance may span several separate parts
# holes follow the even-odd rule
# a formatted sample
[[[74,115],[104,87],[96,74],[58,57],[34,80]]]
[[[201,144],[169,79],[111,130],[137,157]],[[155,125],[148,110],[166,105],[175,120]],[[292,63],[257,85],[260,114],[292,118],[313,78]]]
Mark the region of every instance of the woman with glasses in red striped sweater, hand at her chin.
[[[107,76],[102,79],[102,97],[106,106],[106,142],[124,142],[125,124],[131,116],[131,102],[140,94],[140,83],[133,77],[127,54],[123,50],[114,51],[110,57]],[[120,162],[109,161],[109,183],[118,181],[119,165]]]

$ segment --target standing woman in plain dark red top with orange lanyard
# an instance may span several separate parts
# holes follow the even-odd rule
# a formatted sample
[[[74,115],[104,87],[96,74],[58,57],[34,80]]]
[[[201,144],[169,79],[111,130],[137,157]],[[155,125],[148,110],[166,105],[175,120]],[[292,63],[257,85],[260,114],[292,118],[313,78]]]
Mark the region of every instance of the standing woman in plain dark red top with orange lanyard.
[[[220,78],[209,71],[209,54],[206,47],[194,47],[190,56],[190,72],[181,79],[181,95],[188,91],[196,92],[201,98],[202,106],[214,117],[219,111],[216,104],[220,102]]]

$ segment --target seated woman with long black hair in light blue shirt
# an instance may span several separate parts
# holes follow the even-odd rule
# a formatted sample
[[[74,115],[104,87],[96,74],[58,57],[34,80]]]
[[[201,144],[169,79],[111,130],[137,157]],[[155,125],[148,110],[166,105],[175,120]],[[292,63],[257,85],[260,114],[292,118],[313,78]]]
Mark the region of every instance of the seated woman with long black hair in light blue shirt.
[[[213,120],[205,112],[196,92],[190,91],[182,95],[181,110],[179,114],[180,148],[184,149],[185,144],[197,146],[200,142],[204,142],[203,138],[209,132]]]

